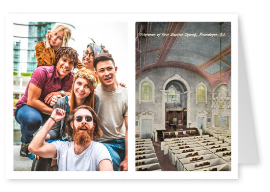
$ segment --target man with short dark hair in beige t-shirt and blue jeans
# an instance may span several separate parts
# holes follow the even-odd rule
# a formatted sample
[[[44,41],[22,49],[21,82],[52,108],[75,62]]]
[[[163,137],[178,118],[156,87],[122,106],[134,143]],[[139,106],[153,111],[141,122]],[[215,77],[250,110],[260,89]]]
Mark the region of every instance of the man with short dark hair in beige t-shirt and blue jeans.
[[[127,89],[117,84],[117,67],[112,55],[99,54],[93,63],[101,83],[96,88],[100,99],[98,117],[103,132],[98,141],[109,150],[114,170],[127,171]]]

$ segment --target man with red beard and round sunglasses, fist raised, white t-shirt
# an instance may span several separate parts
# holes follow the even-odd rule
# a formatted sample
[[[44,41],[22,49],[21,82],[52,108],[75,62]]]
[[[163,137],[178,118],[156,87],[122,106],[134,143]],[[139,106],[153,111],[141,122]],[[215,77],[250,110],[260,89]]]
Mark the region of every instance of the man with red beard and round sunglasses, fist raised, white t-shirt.
[[[59,171],[113,170],[107,148],[95,139],[102,136],[98,115],[89,106],[79,106],[66,118],[66,132],[72,141],[44,142],[50,128],[65,117],[65,111],[53,110],[51,116],[29,145],[29,151],[57,160]]]

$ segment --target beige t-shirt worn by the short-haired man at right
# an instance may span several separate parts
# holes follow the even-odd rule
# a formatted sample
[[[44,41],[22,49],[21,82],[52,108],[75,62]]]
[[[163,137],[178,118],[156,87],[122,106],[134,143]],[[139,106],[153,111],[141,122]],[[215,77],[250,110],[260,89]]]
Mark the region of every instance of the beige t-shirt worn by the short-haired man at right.
[[[127,89],[119,86],[115,91],[107,92],[98,84],[95,89],[99,97],[98,117],[103,135],[97,141],[125,139],[124,116],[127,116]]]

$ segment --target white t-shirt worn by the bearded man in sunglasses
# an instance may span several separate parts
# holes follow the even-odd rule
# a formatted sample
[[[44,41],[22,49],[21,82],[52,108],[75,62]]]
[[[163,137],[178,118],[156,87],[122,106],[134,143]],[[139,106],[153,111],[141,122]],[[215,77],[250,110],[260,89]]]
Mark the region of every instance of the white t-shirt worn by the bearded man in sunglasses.
[[[102,144],[91,141],[91,144],[81,154],[74,153],[74,141],[51,142],[57,150],[59,171],[98,171],[98,164],[104,159],[112,161],[108,149]]]

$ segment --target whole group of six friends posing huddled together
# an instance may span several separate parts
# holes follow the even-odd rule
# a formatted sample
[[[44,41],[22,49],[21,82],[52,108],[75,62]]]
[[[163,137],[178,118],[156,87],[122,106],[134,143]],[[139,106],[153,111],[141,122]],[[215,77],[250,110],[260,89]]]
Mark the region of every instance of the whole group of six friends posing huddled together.
[[[78,53],[72,35],[57,25],[35,46],[37,67],[15,104],[20,156],[31,171],[127,171],[126,84],[102,42],[88,38]]]

